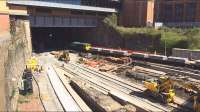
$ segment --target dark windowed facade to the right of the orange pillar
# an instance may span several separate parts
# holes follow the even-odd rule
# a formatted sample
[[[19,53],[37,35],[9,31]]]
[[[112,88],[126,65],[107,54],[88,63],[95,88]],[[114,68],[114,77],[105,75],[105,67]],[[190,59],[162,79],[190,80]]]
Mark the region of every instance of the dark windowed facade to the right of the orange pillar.
[[[200,0],[157,0],[155,22],[168,26],[200,26]]]

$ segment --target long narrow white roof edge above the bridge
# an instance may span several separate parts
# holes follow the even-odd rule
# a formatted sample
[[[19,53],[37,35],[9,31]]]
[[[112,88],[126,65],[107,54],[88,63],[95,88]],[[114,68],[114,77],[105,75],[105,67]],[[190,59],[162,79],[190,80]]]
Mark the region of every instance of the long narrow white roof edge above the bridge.
[[[74,5],[74,4],[67,4],[67,3],[53,3],[53,2],[47,2],[47,1],[8,0],[7,3],[8,4],[13,4],[13,5],[23,5],[23,6],[39,6],[39,7],[86,10],[86,11],[98,11],[98,12],[110,12],[110,13],[116,13],[117,12],[116,9],[114,9],[114,8],[83,6],[83,5]]]

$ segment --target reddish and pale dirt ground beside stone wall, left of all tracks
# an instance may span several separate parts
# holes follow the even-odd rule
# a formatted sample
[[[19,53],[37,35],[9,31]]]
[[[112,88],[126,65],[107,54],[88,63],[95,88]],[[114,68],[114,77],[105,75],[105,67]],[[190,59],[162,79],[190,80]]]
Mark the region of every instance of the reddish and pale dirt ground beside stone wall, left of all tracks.
[[[42,55],[39,55],[39,57]],[[45,63],[46,60],[40,61]],[[63,111],[54,90],[51,87],[49,79],[47,77],[47,73],[44,70],[42,73],[35,73],[33,74],[33,94],[28,95],[19,95],[18,100],[18,111]],[[40,92],[40,96],[39,96]],[[40,98],[42,102],[40,101]],[[43,103],[43,104],[42,104]],[[44,105],[44,107],[43,107]]]

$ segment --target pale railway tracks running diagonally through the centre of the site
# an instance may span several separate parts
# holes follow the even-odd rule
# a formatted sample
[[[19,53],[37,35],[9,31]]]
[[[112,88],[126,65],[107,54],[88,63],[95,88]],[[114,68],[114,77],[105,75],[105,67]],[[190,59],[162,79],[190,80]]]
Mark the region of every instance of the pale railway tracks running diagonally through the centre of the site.
[[[173,105],[161,105],[143,97],[131,95],[130,92],[142,92],[144,89],[141,89],[142,87],[133,86],[133,83],[130,84],[119,78],[113,78],[112,76],[108,76],[86,66],[68,63],[65,64],[65,67],[62,67],[62,69],[146,111],[172,111],[176,108],[176,106]]]

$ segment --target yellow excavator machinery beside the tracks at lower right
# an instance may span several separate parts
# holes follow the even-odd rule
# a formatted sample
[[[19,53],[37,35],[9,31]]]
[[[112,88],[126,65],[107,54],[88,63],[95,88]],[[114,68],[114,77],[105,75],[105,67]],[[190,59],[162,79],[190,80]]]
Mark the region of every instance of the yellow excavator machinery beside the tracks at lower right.
[[[144,85],[147,88],[147,93],[160,98],[164,103],[170,103],[174,101],[175,91],[174,85],[181,86],[187,93],[193,94],[193,109],[195,112],[200,112],[200,88],[198,85],[178,80],[170,79],[168,77],[160,77],[159,79],[148,79],[144,81]]]

